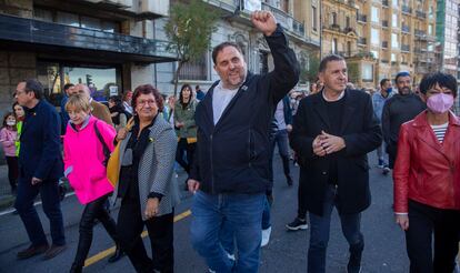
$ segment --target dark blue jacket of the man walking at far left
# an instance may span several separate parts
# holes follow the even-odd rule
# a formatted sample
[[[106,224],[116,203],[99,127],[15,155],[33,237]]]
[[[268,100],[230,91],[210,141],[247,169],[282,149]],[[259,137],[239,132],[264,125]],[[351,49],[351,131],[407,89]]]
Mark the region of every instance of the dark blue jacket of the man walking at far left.
[[[60,141],[61,120],[54,107],[46,100],[26,110],[19,152],[20,176],[56,180],[62,176]]]

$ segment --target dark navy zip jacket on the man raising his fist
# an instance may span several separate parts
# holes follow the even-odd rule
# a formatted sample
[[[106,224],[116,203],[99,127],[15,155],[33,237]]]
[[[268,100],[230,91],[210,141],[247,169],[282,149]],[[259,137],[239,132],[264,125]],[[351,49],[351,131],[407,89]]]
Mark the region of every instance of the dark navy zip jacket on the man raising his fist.
[[[299,80],[299,64],[280,27],[266,39],[273,71],[248,73],[216,125],[212,93],[217,83],[197,107],[198,142],[190,178],[200,181],[200,190],[207,193],[264,193],[270,188],[270,123],[277,103]]]

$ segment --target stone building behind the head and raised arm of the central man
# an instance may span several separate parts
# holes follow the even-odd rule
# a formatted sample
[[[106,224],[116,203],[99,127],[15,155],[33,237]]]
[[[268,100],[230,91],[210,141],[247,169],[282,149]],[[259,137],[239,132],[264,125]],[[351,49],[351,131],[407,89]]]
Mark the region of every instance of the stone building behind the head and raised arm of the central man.
[[[171,1],[172,4],[173,1]],[[303,72],[309,70],[309,59],[319,57],[320,27],[319,0],[203,0],[212,9],[221,12],[218,29],[211,37],[208,52],[194,62],[187,63],[179,74],[179,85],[199,84],[207,90],[218,74],[213,70],[212,48],[223,41],[237,42],[243,50],[248,70],[264,73],[273,68],[270,50],[260,32],[254,31],[250,21],[250,12],[254,9],[269,10],[284,29],[290,46],[296,51]],[[156,29],[159,39],[163,39],[162,26],[167,19],[158,20]],[[153,65],[156,73],[161,74],[157,84],[160,90],[172,92],[172,72],[177,63],[159,63]],[[301,79],[298,89],[307,90],[307,80]]]

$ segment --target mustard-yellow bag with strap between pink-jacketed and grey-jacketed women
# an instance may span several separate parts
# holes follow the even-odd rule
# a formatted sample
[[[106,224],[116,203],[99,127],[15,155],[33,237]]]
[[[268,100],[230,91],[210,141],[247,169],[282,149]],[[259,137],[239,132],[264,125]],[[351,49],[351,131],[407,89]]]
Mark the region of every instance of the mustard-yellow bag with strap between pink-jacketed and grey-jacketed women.
[[[119,141],[113,149],[112,153],[110,153],[109,146],[107,145],[106,141],[103,141],[101,132],[99,131],[98,127],[96,125],[97,122],[94,122],[94,131],[98,135],[99,141],[102,143],[103,149],[103,155],[104,161],[102,162],[103,165],[106,165],[107,169],[107,179],[109,180],[110,184],[116,188],[118,184],[118,180],[120,178],[120,145],[121,141]],[[129,131],[131,130],[132,125],[134,124],[134,119],[131,118],[126,129]]]

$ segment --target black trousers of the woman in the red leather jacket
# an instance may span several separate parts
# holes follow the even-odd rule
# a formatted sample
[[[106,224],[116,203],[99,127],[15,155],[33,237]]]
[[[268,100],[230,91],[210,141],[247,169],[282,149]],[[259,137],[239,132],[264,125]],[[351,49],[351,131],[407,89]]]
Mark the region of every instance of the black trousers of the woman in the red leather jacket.
[[[434,233],[434,257],[432,234]],[[459,251],[460,211],[409,201],[406,244],[411,273],[452,273]]]

